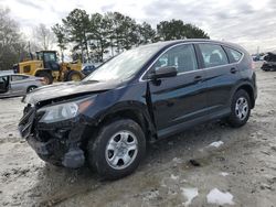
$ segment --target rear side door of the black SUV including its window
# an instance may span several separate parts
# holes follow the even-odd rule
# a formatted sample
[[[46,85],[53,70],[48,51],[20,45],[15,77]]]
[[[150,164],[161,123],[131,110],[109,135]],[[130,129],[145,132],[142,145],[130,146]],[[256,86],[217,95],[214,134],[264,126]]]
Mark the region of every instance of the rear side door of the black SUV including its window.
[[[210,113],[220,116],[230,111],[232,88],[238,80],[238,70],[231,64],[225,48],[220,44],[199,43],[206,74],[208,106]]]

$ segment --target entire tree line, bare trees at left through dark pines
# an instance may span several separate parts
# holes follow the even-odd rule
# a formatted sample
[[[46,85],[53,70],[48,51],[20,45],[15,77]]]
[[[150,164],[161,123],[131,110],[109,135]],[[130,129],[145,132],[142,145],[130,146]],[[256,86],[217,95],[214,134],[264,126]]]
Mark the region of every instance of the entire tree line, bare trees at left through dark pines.
[[[60,48],[62,61],[64,52],[70,50],[73,61],[86,63],[103,62],[106,56],[158,41],[209,39],[202,29],[182,20],[161,21],[152,28],[119,12],[88,14],[74,9],[51,29],[39,24],[33,29],[32,41],[25,41],[9,12],[0,8],[0,70],[11,69],[13,64],[30,57],[31,52],[51,50],[54,44]]]

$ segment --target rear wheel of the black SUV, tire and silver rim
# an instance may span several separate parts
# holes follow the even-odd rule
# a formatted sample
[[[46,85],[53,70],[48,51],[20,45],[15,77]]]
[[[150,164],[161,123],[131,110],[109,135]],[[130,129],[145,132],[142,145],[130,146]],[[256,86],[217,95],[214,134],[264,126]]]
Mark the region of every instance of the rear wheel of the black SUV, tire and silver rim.
[[[232,99],[231,115],[227,122],[233,128],[243,127],[251,116],[251,99],[248,94],[241,89],[237,90]]]

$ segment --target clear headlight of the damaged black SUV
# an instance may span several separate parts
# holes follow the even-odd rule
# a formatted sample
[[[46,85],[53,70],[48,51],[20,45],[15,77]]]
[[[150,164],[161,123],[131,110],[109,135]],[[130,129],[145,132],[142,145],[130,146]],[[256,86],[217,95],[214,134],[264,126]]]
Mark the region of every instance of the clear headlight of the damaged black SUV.
[[[40,122],[52,123],[72,119],[76,117],[79,112],[83,112],[92,103],[93,100],[89,99],[41,108],[38,112],[44,112],[44,115],[40,119]]]

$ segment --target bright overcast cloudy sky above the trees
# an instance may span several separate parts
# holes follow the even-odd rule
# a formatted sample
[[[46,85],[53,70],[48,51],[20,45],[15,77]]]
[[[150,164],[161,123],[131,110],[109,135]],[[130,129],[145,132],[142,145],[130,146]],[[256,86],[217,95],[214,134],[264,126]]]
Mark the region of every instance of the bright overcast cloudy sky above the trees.
[[[153,26],[181,19],[213,40],[235,42],[251,53],[276,50],[276,0],[0,0],[30,34],[39,23],[52,26],[75,8],[88,13],[119,11]]]

